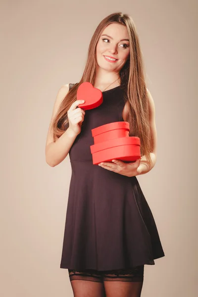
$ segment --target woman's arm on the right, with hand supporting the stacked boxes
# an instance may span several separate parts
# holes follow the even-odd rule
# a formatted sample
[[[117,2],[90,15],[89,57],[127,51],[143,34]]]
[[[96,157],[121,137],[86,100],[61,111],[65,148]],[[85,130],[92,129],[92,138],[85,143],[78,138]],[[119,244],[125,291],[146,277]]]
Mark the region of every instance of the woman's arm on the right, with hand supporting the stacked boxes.
[[[148,106],[149,106],[149,125],[152,143],[152,151],[150,152],[151,164],[148,165],[148,160],[145,155],[136,162],[125,163],[120,160],[112,160],[112,162],[101,162],[99,166],[114,171],[116,173],[132,177],[136,175],[145,174],[150,171],[156,162],[157,155],[157,131],[155,125],[155,106],[150,92],[148,91]]]

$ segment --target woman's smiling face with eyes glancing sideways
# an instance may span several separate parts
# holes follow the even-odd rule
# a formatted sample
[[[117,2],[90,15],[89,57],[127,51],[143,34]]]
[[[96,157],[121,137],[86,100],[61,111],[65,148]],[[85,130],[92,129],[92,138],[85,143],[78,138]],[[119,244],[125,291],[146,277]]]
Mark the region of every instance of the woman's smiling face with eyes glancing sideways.
[[[96,47],[99,67],[117,72],[126,63],[129,52],[129,35],[126,26],[117,23],[109,24],[101,33]],[[116,61],[111,61],[105,56],[115,58]]]

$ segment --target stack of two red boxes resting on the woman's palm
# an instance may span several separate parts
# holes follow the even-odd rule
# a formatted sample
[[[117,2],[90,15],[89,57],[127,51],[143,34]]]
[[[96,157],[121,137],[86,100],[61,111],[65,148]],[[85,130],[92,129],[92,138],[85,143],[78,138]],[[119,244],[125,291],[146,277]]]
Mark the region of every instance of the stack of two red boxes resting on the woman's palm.
[[[94,145],[91,146],[93,164],[111,162],[113,159],[132,162],[141,158],[140,138],[129,137],[128,122],[114,122],[92,129]]]

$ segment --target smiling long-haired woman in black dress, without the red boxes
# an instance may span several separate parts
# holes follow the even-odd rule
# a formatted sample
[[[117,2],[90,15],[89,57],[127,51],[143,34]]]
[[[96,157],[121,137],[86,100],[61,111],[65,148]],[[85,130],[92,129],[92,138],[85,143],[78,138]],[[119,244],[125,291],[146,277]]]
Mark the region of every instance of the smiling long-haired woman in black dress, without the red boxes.
[[[90,82],[102,104],[86,110],[77,89]],[[93,165],[91,130],[128,121],[141,141],[141,159]],[[56,166],[69,153],[72,176],[60,268],[67,268],[75,297],[139,297],[144,264],[164,256],[151,210],[137,175],[156,161],[153,99],[146,88],[134,22],[112,13],[97,27],[79,83],[62,86],[54,103],[46,161]]]

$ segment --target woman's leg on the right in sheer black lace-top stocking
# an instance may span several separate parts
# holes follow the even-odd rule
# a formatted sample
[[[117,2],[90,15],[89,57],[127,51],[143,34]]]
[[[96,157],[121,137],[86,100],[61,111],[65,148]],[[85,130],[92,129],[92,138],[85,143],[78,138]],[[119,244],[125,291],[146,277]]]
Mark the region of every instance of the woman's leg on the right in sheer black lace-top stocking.
[[[140,297],[143,281],[144,265],[103,272],[106,297]]]

